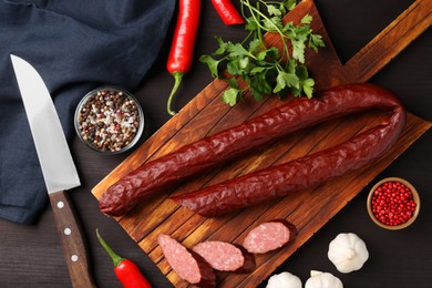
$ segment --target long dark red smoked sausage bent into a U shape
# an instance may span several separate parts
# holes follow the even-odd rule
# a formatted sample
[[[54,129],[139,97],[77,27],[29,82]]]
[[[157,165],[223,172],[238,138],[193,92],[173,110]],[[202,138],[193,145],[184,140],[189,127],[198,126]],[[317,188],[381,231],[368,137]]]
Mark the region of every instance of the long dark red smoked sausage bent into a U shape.
[[[370,109],[391,110],[392,114],[389,122],[368,133],[363,133],[348,143],[341,144],[337,148],[330,148],[285,166],[258,172],[251,176],[235,178],[228,183],[207,187],[191,195],[176,196],[173,199],[198,212],[202,210],[203,206],[216,204],[215,195],[220,193],[216,191],[229,191],[235,187],[245,192],[249,191],[248,187],[254,182],[251,195],[255,195],[253,197],[256,198],[241,198],[241,203],[235,202],[234,206],[240,208],[261,202],[263,197],[268,198],[269,194],[281,196],[287,194],[287,191],[304,188],[309,184],[318,184],[364,165],[377,158],[394,143],[403,127],[405,114],[401,103],[393,93],[373,84],[347,84],[318,92],[312,99],[294,99],[238,126],[206,136],[171,154],[145,163],[112,185],[100,197],[100,209],[107,215],[121,216],[131,210],[136,204],[163,189],[178,184],[197,173],[236,158],[265,143],[332,117]],[[370,152],[363,145],[371,146]],[[343,157],[342,153],[348,154]],[[331,162],[331,156],[338,158],[338,163],[340,161],[343,163],[331,169],[330,167],[336,164]],[[312,167],[304,167],[304,165],[316,164],[319,166],[317,168],[318,175],[315,175],[317,171],[312,169]],[[280,173],[289,173],[291,176],[279,177],[277,174]],[[299,176],[296,183],[282,185],[282,183],[289,181],[290,177],[296,177],[296,175]],[[269,186],[265,187],[267,182]],[[277,189],[278,186],[287,186],[288,188],[281,191],[280,187]],[[269,187],[271,189],[274,187],[277,191],[274,193],[266,192]],[[264,196],[256,196],[256,194],[263,194]],[[228,193],[228,195],[225,200],[234,197],[233,193]],[[243,197],[240,194],[238,196]],[[215,206],[210,214],[216,215],[224,212],[225,208],[222,208],[222,206],[225,205],[225,200],[223,199],[219,206]],[[233,208],[233,205],[230,207]],[[232,210],[232,208],[227,208],[226,212]],[[203,214],[208,213],[202,212]]]

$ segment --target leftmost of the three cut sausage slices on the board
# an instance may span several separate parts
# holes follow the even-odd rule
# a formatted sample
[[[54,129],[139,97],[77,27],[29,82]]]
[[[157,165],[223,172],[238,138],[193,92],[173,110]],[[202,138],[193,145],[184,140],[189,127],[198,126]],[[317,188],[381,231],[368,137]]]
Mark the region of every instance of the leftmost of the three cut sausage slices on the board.
[[[197,287],[216,286],[215,271],[203,257],[168,235],[161,234],[157,241],[166,260],[182,279]]]

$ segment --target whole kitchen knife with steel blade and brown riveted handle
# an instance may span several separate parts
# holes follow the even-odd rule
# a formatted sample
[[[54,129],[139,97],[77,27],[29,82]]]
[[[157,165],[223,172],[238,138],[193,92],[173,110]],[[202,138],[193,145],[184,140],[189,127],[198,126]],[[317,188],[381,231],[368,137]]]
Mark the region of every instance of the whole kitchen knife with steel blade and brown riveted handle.
[[[60,234],[73,287],[95,287],[90,274],[82,232],[65,191],[80,186],[69,146],[50,92],[38,71],[23,59],[10,55],[29,120]]]

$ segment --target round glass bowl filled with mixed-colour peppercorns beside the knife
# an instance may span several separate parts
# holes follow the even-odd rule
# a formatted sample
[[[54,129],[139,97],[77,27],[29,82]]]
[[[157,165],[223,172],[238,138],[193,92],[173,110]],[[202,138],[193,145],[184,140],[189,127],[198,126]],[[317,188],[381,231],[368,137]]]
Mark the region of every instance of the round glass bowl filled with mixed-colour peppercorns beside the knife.
[[[75,111],[75,130],[90,148],[105,154],[128,151],[144,130],[144,113],[126,90],[104,86],[89,92]]]

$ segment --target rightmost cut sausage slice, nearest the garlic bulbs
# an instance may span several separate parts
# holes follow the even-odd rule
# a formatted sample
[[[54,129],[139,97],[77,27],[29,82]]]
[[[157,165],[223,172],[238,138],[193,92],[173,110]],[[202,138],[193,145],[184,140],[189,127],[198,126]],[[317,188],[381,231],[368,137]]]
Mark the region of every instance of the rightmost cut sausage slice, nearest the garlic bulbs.
[[[249,253],[265,254],[292,241],[296,235],[296,226],[289,222],[271,220],[253,228],[246,235],[243,247]]]

